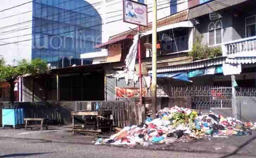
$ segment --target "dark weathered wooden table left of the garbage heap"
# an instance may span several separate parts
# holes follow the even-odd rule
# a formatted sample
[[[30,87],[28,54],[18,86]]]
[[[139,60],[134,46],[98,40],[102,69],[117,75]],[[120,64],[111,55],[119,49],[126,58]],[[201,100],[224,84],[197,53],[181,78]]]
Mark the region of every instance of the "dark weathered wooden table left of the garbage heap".
[[[75,132],[97,132],[97,133],[101,133],[102,130],[104,128],[112,128],[112,126],[108,126],[108,127],[100,127],[100,119],[104,119],[107,121],[113,121],[109,118],[107,118],[108,116],[110,116],[111,112],[98,112],[98,111],[72,111],[71,112],[71,117],[72,117],[72,131],[73,131],[73,135],[75,135]],[[96,121],[97,121],[97,129],[81,129],[75,126],[75,121],[74,121],[74,117],[75,116],[95,116],[96,117]],[[86,124],[86,120],[84,121],[84,124]]]

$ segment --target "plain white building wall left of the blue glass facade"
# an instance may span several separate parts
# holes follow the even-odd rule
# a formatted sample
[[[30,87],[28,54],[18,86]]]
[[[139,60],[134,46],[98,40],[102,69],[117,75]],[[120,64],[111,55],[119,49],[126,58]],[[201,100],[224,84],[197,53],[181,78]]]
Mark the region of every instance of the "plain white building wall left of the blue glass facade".
[[[0,10],[2,11],[4,9],[17,6],[29,1],[30,0],[20,0],[20,1],[4,0],[4,1],[1,1]],[[28,12],[28,11],[31,11],[31,12]],[[27,13],[20,14],[23,12],[27,12]],[[20,15],[17,15],[17,14],[20,14]],[[15,15],[15,16],[12,16],[12,15]],[[9,16],[12,16],[12,17],[9,17]],[[22,59],[31,60],[32,2],[1,12],[0,19],[1,19],[1,22],[0,22],[0,28],[1,28],[0,29],[0,55],[1,57],[4,58],[6,60],[6,63],[9,65],[17,65],[18,62],[21,61]],[[17,29],[23,29],[23,30],[14,31]],[[26,35],[26,34],[29,34],[29,35]],[[8,43],[22,41],[22,40],[28,40],[28,41],[18,42],[15,44],[8,44]],[[8,45],[4,45],[4,44],[8,44]]]

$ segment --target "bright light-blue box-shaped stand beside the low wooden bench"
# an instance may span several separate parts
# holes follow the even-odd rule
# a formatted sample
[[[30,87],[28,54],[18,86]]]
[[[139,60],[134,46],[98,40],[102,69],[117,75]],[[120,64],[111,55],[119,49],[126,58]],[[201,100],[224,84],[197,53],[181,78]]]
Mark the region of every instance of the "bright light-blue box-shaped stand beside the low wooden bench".
[[[15,126],[24,124],[24,111],[19,109],[2,109],[2,126],[11,125]]]

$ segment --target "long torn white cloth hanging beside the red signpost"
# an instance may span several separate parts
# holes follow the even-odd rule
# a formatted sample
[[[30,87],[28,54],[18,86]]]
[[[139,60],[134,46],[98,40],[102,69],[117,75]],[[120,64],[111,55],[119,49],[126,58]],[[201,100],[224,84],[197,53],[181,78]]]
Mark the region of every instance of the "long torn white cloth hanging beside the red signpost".
[[[135,61],[138,51],[139,34],[134,36],[133,45],[130,47],[129,53],[125,59],[126,68],[128,71],[134,71]]]

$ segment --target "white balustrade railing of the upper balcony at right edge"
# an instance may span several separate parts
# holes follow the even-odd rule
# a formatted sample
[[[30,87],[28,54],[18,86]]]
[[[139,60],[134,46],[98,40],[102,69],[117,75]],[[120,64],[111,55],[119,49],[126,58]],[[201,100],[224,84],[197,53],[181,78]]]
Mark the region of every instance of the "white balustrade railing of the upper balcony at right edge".
[[[223,56],[252,57],[256,56],[256,36],[234,40],[222,44]]]

